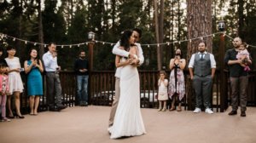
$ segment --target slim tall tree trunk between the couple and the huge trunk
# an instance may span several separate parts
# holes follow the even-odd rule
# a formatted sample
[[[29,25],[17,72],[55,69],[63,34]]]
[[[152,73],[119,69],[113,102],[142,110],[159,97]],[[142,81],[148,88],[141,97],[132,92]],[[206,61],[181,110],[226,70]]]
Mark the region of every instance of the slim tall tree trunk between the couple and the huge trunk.
[[[156,43],[160,43],[159,36],[159,25],[158,25],[158,3],[154,0],[154,26],[155,26],[155,37]],[[161,70],[161,57],[160,57],[160,46],[157,45],[157,70]]]

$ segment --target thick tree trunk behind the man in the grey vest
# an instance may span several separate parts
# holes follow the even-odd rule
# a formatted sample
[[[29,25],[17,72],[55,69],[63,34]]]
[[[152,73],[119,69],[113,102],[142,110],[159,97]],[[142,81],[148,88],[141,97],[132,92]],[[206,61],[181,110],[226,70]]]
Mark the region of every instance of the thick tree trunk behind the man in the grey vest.
[[[212,0],[187,0],[188,10],[188,38],[203,37],[212,34]],[[203,40],[207,43],[207,52],[212,52],[212,37],[203,37]],[[197,52],[197,47],[201,38],[192,40],[188,43],[187,59],[189,60],[191,55]],[[189,62],[189,61],[188,61]],[[192,82],[187,80],[187,100],[188,109],[193,110],[195,108],[195,95],[192,88]]]

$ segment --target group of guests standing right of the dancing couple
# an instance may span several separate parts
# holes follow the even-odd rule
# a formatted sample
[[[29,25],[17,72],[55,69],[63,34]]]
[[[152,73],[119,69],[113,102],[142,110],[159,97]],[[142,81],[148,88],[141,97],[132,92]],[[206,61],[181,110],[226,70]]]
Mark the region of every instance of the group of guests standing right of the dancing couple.
[[[251,56],[247,51],[247,43],[242,43],[240,37],[236,37],[233,41],[234,49],[227,50],[224,63],[230,70],[231,85],[231,106],[230,116],[237,114],[238,98],[241,103],[241,117],[246,117],[247,106],[247,84],[249,66],[252,64]],[[170,61],[170,78],[169,83],[166,79],[166,72],[160,72],[158,80],[159,92],[159,112],[166,111],[166,100],[172,100],[170,112],[175,110],[175,102],[177,100],[177,112],[181,112],[181,102],[185,94],[185,83],[183,69],[186,66],[186,60],[182,59],[180,49],[175,51],[175,57]],[[207,52],[207,44],[200,42],[198,44],[198,52],[192,54],[189,60],[189,76],[192,80],[193,89],[195,91],[195,110],[194,113],[201,112],[204,107],[205,112],[212,114],[212,79],[216,70],[216,61],[214,55]],[[169,85],[169,86],[168,86]],[[162,106],[162,102],[164,103]]]

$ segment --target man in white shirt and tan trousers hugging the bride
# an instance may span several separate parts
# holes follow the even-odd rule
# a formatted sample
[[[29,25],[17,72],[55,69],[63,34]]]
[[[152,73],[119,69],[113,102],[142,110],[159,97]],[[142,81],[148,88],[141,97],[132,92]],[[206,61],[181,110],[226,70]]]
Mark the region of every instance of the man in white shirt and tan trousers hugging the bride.
[[[139,41],[139,39],[142,37],[142,31],[138,28],[134,28],[132,30],[132,36],[135,39],[135,44],[137,45],[138,48],[138,52],[139,52],[139,57],[137,60],[133,60],[133,63],[131,64],[136,64],[137,66],[141,66],[144,62],[144,56],[143,56],[143,49],[141,47],[140,43],[137,43]],[[117,54],[123,57],[127,57],[127,58],[135,58],[133,54],[123,50],[123,49],[119,49],[120,43],[116,43],[113,47],[112,53],[113,54]],[[120,81],[120,72],[121,72],[122,67],[118,67],[116,69],[115,72],[115,95],[114,95],[114,100],[112,103],[112,107],[111,107],[111,112],[110,112],[110,116],[109,116],[109,122],[108,122],[108,127],[111,127],[113,125],[113,119],[114,119],[114,115],[116,112],[116,108],[118,106],[119,103],[119,96],[120,96],[120,86],[119,86],[119,81]]]

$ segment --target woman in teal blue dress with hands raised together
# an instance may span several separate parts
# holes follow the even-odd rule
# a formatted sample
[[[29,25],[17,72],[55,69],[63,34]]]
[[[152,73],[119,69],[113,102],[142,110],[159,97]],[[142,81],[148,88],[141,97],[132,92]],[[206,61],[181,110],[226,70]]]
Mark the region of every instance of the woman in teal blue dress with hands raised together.
[[[24,63],[27,74],[27,94],[29,96],[30,115],[38,115],[40,96],[43,95],[43,80],[41,72],[44,72],[42,61],[38,59],[37,49],[31,49],[29,58]]]

